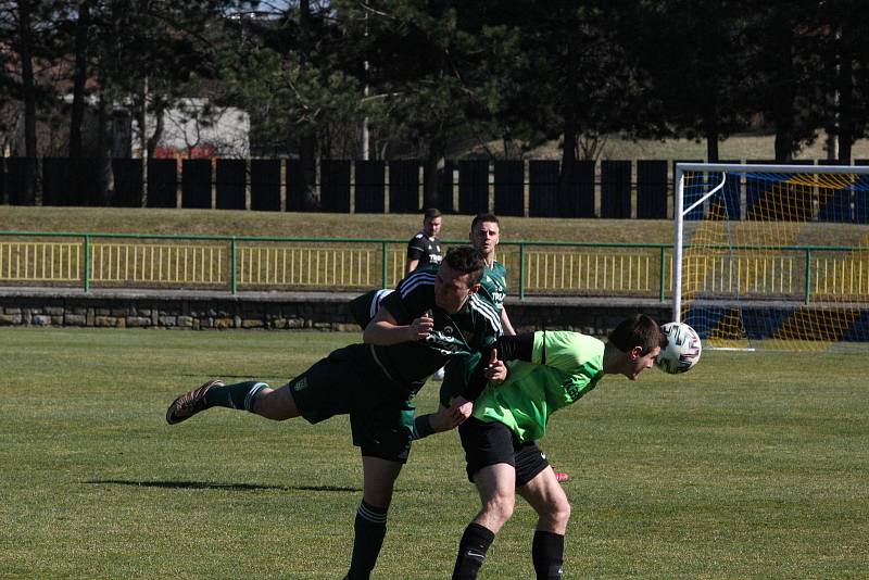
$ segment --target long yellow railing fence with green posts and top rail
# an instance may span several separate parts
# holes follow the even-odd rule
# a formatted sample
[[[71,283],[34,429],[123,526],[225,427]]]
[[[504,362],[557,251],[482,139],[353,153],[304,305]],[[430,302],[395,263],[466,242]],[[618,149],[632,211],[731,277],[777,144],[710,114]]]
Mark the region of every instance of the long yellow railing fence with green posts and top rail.
[[[445,240],[444,245],[462,244]],[[365,290],[402,278],[406,240],[0,231],[0,283],[91,288]],[[507,241],[509,292],[672,297],[672,248],[656,243]],[[869,250],[733,247],[687,252],[683,293],[869,302]]]

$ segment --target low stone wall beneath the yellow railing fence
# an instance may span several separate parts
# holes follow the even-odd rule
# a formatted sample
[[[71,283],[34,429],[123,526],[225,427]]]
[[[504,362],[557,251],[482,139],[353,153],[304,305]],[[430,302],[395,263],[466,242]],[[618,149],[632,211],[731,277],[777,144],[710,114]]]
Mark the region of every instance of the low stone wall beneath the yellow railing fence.
[[[0,290],[0,326],[350,330],[348,293],[244,293],[75,289]],[[624,317],[643,312],[670,318],[655,301],[507,300],[518,329],[569,329],[605,335]]]

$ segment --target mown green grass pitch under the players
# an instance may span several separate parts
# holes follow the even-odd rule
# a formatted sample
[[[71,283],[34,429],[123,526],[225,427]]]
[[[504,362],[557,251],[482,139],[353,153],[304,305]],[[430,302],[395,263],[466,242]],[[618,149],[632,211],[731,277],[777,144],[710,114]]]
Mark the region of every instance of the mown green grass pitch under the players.
[[[0,329],[0,577],[340,578],[362,483],[344,417],[163,415],[209,377],[282,383],[357,339]],[[543,442],[571,476],[566,577],[866,578],[865,375],[862,348],[604,379]],[[416,444],[375,577],[448,578],[477,502],[455,433]],[[533,525],[520,501],[481,578],[533,577]]]

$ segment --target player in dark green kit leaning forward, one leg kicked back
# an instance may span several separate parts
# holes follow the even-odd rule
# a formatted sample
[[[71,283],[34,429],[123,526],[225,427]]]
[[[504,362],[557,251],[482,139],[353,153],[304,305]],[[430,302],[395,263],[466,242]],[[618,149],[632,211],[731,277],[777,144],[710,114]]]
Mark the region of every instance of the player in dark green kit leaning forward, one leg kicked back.
[[[365,328],[365,343],[338,349],[279,389],[211,380],[176,399],[166,420],[178,424],[214,406],[275,420],[301,416],[312,424],[349,414],[364,483],[348,578],[366,579],[386,535],[395,479],[411,451],[414,395],[431,373],[450,360],[467,358],[500,333],[493,305],[476,295],[482,267],[476,250],[455,248],[440,267],[414,273],[382,301]],[[484,373],[478,365],[470,387],[427,427],[450,429],[467,418],[469,401],[486,384]]]

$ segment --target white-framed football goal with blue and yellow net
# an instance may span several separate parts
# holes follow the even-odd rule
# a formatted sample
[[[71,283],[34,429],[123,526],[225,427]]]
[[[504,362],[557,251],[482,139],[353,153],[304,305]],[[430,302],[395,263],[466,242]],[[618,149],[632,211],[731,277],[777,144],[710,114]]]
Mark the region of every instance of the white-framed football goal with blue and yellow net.
[[[869,167],[678,164],[673,319],[711,348],[869,341]]]

